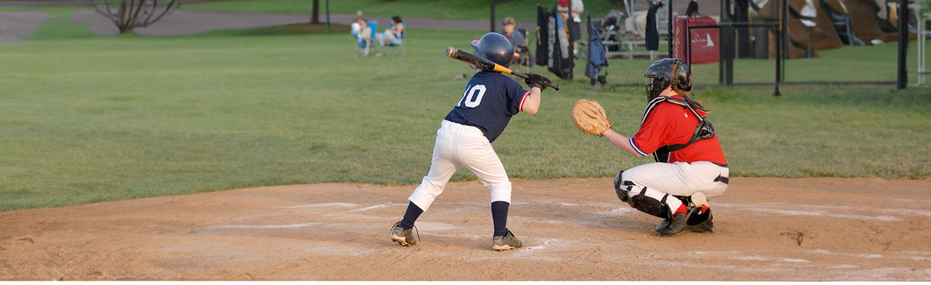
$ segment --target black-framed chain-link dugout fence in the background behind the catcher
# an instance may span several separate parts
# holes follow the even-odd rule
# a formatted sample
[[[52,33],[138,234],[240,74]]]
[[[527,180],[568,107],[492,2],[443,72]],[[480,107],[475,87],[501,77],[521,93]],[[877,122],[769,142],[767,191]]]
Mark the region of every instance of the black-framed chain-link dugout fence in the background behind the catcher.
[[[531,57],[539,48],[537,6],[560,13],[558,0],[490,2],[494,31],[503,31],[503,19],[516,19],[526,31]],[[562,4],[572,9],[578,2]],[[654,14],[658,45],[649,46],[651,2],[581,1],[580,32],[570,46],[577,52],[572,80],[641,86],[643,72],[658,58],[691,62],[696,86],[773,85],[775,94],[785,84],[904,88],[910,80],[923,83],[928,73],[929,17],[895,0],[663,0]],[[568,20],[574,17],[562,15],[572,25]],[[592,32],[598,36],[589,36]],[[604,49],[607,63],[594,78],[586,74],[591,46]],[[524,63],[516,69],[553,75],[546,63]]]

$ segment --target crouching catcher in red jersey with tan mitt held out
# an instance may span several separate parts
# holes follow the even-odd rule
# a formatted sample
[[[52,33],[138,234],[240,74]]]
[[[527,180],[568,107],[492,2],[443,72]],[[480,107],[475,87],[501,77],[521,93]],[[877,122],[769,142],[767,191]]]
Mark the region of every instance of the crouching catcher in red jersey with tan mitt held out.
[[[727,160],[718,136],[705,118],[708,110],[689,97],[692,72],[679,59],[653,63],[644,77],[648,102],[640,130],[632,137],[611,129],[598,102],[580,100],[573,109],[579,130],[603,136],[635,156],[653,154],[656,162],[622,170],[614,177],[617,198],[646,214],[663,218],[662,236],[713,232],[708,197],[727,188]]]

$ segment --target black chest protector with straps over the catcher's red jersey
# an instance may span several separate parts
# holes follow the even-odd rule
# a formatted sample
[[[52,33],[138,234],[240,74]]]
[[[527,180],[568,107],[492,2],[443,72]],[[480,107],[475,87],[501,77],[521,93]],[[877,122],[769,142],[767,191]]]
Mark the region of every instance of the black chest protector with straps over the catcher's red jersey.
[[[689,145],[695,143],[696,141],[699,141],[702,139],[708,139],[714,136],[714,127],[711,126],[711,122],[708,122],[708,120],[705,119],[705,115],[695,110],[697,109],[697,110],[702,110],[704,112],[707,112],[705,110],[705,107],[702,106],[700,103],[689,99],[688,97],[683,97],[682,99],[670,98],[670,97],[664,97],[664,96],[653,98],[652,100],[650,100],[650,103],[646,105],[646,110],[643,110],[643,118],[641,118],[641,125],[643,124],[643,122],[646,122],[646,117],[650,115],[650,112],[653,111],[656,108],[656,106],[659,106],[659,104],[663,104],[663,103],[671,103],[671,104],[676,104],[676,105],[685,107],[685,109],[688,109],[689,111],[692,112],[692,114],[695,115],[695,118],[698,118],[698,125],[695,126],[695,133],[692,134],[692,138],[689,139],[688,142],[684,144],[679,144],[679,145],[668,145],[668,146],[656,149],[656,151],[654,151],[653,153],[653,158],[656,162],[669,162],[669,152],[672,152],[673,150],[685,149],[685,147],[688,147]]]

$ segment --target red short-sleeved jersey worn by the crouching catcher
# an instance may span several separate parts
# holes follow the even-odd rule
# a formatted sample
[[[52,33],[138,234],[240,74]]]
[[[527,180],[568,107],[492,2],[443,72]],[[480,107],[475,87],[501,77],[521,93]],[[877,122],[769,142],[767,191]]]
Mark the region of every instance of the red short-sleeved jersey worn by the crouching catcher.
[[[673,97],[682,98],[678,95]],[[695,111],[703,116],[707,115],[705,111],[697,109]],[[641,124],[640,131],[637,131],[637,135],[630,137],[630,145],[642,156],[648,156],[656,149],[668,145],[688,143],[692,139],[692,134],[695,133],[698,122],[695,114],[685,107],[668,102],[660,103],[647,115],[646,120]],[[669,152],[668,162],[715,162],[727,164],[724,151],[721,149],[721,142],[718,141],[718,135],[696,141],[685,149]]]

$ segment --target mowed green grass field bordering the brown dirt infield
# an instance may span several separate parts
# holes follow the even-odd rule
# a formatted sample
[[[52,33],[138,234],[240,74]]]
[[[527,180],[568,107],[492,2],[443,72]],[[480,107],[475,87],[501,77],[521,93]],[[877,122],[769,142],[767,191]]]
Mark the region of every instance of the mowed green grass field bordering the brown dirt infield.
[[[5,44],[0,211],[282,184],[416,184],[462,96],[466,82],[452,77],[472,72],[442,51],[480,35],[412,30],[405,58],[355,58],[344,33]],[[515,116],[494,143],[511,177],[613,176],[652,162],[582,134],[569,115],[578,98],[599,100],[615,130],[632,135],[642,87],[557,82],[563,90],[546,90],[540,113]],[[696,97],[712,110],[734,175],[931,175],[928,89],[786,87],[771,97],[769,86],[704,86]]]

